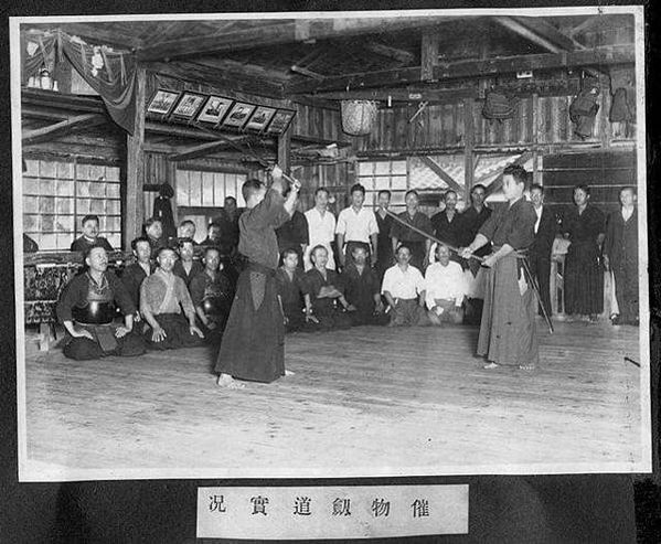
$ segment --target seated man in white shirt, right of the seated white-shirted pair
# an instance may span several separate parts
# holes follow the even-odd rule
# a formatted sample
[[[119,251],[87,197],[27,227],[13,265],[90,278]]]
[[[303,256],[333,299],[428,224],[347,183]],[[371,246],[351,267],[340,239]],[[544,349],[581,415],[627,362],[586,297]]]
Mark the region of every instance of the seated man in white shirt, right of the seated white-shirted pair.
[[[434,324],[463,321],[461,307],[466,296],[466,280],[459,263],[450,260],[450,249],[445,244],[436,246],[436,263],[425,274],[427,316]]]

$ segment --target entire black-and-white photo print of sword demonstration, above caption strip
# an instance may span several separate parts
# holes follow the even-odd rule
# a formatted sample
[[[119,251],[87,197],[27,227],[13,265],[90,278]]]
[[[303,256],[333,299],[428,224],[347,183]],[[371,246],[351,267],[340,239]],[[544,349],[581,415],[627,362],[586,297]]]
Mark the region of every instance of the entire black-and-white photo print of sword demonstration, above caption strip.
[[[649,472],[643,26],[11,18],[20,481]]]

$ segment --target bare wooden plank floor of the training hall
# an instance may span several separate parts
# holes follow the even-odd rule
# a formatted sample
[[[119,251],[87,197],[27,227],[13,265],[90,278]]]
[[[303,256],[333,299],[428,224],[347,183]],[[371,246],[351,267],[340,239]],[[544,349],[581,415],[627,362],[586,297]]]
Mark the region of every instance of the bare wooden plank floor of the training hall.
[[[296,375],[218,390],[204,348],[26,348],[22,478],[633,471],[638,329],[540,323],[542,365],[482,369],[475,328],[289,335]]]

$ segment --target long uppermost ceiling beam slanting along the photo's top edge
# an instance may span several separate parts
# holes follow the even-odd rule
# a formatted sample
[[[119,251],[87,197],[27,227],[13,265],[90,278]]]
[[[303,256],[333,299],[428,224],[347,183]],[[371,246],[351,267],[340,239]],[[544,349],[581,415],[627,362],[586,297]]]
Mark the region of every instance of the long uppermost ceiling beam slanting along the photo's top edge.
[[[234,32],[230,31],[163,41],[150,46],[139,47],[137,58],[138,61],[153,62],[191,56],[199,57],[201,55],[250,50],[285,43],[433,26],[450,19],[449,17],[364,17],[285,20],[277,24],[267,24]]]

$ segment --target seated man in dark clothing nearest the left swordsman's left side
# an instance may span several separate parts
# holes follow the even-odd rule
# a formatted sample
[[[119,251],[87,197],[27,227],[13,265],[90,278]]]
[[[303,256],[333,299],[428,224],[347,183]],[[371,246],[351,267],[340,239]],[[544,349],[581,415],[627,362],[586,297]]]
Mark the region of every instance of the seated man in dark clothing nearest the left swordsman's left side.
[[[204,338],[212,344],[220,343],[232,307],[232,285],[223,273],[217,247],[204,250],[204,269],[190,285],[191,299],[202,322]]]

